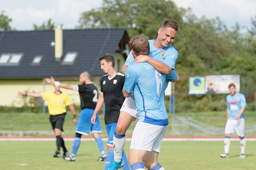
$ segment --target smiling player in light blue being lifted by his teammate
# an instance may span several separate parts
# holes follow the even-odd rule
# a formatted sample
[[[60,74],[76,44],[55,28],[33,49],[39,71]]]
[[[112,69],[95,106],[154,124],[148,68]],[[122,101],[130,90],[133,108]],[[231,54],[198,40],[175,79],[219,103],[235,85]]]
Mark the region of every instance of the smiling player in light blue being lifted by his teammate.
[[[129,65],[132,65],[134,62],[148,62],[151,66],[156,68],[159,73],[168,74],[167,78],[170,81],[179,81],[179,76],[174,71],[175,62],[178,58],[178,52],[171,45],[176,38],[179,28],[180,26],[176,21],[166,19],[158,30],[157,38],[149,40],[149,55],[139,55],[134,59],[132,52],[130,52],[124,63],[123,72],[125,73],[126,68]],[[164,62],[154,59],[157,57],[164,59]],[[120,111],[120,118],[117,122],[116,132],[113,140],[115,145],[113,164],[115,164],[117,167],[120,166],[122,162],[122,152],[125,145],[125,132],[131,125],[132,121],[137,117],[134,98],[125,98],[124,104]]]

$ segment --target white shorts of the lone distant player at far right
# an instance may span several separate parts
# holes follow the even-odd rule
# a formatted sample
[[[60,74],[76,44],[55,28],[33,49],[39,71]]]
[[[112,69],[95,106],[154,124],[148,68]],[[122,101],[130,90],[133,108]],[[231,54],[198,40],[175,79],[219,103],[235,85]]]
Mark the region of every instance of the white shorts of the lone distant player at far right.
[[[236,131],[238,136],[244,137],[244,118],[239,120],[236,119],[228,119],[225,126],[225,133],[232,134]]]

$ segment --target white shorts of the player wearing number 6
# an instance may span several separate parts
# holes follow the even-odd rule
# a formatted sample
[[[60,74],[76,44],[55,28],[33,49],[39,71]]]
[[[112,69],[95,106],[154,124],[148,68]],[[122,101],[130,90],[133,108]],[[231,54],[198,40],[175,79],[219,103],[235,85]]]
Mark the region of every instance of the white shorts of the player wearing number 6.
[[[160,152],[167,126],[137,122],[131,140],[131,149]]]

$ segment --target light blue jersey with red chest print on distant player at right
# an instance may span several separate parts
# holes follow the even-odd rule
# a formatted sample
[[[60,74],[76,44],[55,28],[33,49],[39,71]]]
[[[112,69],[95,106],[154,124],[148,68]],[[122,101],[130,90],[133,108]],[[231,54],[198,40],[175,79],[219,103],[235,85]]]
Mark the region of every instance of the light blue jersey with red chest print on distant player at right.
[[[235,119],[236,115],[240,112],[242,107],[246,106],[245,97],[242,93],[236,93],[236,96],[229,94],[227,96],[227,109],[229,110],[229,119]],[[244,113],[240,119],[244,118]]]

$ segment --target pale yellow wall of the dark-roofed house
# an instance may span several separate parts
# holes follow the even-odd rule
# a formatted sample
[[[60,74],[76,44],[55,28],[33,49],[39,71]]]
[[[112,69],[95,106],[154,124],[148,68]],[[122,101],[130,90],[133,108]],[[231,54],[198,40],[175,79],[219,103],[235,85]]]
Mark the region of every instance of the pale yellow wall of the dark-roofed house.
[[[115,69],[117,71],[122,72],[122,67],[124,65],[124,57],[120,53],[114,54],[115,58]],[[118,67],[118,60],[119,60],[119,68]],[[99,65],[100,67],[100,61]],[[79,75],[77,75],[79,78]],[[92,78],[92,82],[97,86],[98,90],[100,90],[100,79],[101,77],[94,77]],[[77,85],[80,84],[79,81],[61,81],[62,83],[67,83],[70,85]],[[19,91],[28,91],[28,92],[37,92],[42,93],[44,91],[53,91],[54,88],[52,85],[45,83],[45,87],[43,86],[42,79],[30,79],[30,80],[0,80],[0,105],[1,106],[15,106],[21,107],[24,104],[25,97],[19,96]],[[77,91],[67,90],[67,89],[60,89],[61,91],[67,93],[71,100],[71,103],[80,105],[80,98]],[[47,102],[46,102],[47,105]]]

